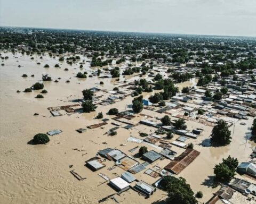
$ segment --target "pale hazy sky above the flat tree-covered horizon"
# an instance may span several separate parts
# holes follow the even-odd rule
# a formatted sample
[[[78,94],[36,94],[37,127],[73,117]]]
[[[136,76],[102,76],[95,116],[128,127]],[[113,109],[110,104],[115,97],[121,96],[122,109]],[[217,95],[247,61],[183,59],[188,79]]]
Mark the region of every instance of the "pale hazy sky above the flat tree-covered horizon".
[[[256,0],[0,0],[0,26],[256,36]]]

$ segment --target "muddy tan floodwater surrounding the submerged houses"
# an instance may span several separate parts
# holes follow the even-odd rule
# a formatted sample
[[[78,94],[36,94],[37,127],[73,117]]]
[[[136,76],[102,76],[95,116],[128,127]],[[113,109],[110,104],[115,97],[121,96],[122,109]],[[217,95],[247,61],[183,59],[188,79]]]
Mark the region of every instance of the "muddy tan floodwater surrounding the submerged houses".
[[[3,54],[3,56],[6,55]],[[77,79],[75,75],[80,71],[78,64],[70,66],[65,62],[59,63],[57,59],[48,56],[39,59],[39,56],[34,55],[35,60],[30,60],[30,56],[26,55],[8,55],[9,60],[5,60],[5,66],[0,67],[0,203],[98,203],[98,200],[116,193],[107,183],[104,183],[105,180],[98,173],[106,174],[113,179],[117,175],[121,175],[124,170],[116,167],[108,171],[107,168],[113,166],[114,162],[106,161],[105,168],[98,172],[92,172],[84,166],[85,161],[94,157],[98,150],[107,147],[118,148],[128,155],[134,156],[137,152],[131,153],[129,149],[142,145],[126,141],[126,139],[130,135],[140,138],[140,131],[151,133],[156,129],[145,125],[135,126],[132,130],[119,128],[117,135],[109,137],[104,133],[114,127],[110,121],[108,125],[103,126],[103,129],[88,129],[82,134],[75,130],[101,122],[94,119],[99,112],[102,112],[104,117],[111,118],[106,115],[110,108],[116,107],[119,111],[123,111],[129,107],[132,98],[127,97],[113,105],[99,105],[95,113],[75,113],[53,117],[47,107],[73,104],[70,100],[82,98],[82,90],[86,88],[99,87],[112,90],[116,81],[98,79],[98,77]],[[41,65],[37,65],[37,62],[41,62]],[[56,63],[60,64],[61,69],[54,67]],[[44,64],[49,64],[50,68],[44,68]],[[22,66],[18,67],[18,65]],[[64,71],[66,67],[69,71]],[[85,64],[84,70],[90,70],[89,63]],[[23,73],[28,74],[28,77],[22,78]],[[17,90],[23,91],[36,81],[40,81],[43,73],[49,73],[53,80],[61,77],[59,83],[44,82],[44,89],[48,91],[44,95],[45,98],[35,98],[40,90],[16,93]],[[30,77],[31,74],[35,74],[35,77]],[[71,79],[69,79],[70,77]],[[125,79],[134,80],[131,77]],[[66,80],[70,80],[70,83],[65,83]],[[124,78],[121,77],[121,81],[123,80]],[[104,81],[105,84],[101,86],[99,81]],[[194,82],[185,83],[185,86],[192,86],[192,84]],[[150,94],[145,94],[145,97],[148,96]],[[39,113],[39,115],[33,116],[34,113]],[[146,109],[142,113],[157,117],[163,116]],[[135,118],[135,120],[140,119],[141,116]],[[246,142],[246,135],[250,135],[252,120],[253,118],[244,121],[247,124],[245,126],[239,124],[241,121],[236,122],[234,132],[234,126],[230,128],[232,134],[234,133],[231,144],[219,148],[203,146],[209,140],[211,127],[192,121],[187,122],[189,130],[204,129],[203,134],[196,140],[189,139],[188,141],[193,142],[195,149],[199,150],[201,154],[179,176],[185,177],[194,192],[199,190],[203,192],[204,197],[200,200],[201,202],[209,200],[212,193],[219,189],[213,189],[211,186],[215,164],[221,162],[222,158],[226,158],[228,155],[237,157],[239,162],[250,160],[249,155],[255,144]],[[63,132],[50,137],[51,141],[47,145],[27,144],[36,133],[45,133],[53,129],[61,129]],[[107,144],[102,144],[102,142]],[[73,150],[75,148],[82,151]],[[152,147],[148,148],[153,149]],[[139,158],[137,159],[142,162]],[[152,168],[157,165],[163,168],[168,163],[168,159],[158,160],[148,167]],[[69,165],[73,165],[73,167],[69,168]],[[87,179],[76,180],[69,173],[72,169]],[[135,177],[148,183],[159,179],[159,177],[154,179],[143,174],[143,171],[135,174]],[[237,177],[242,176],[237,175]],[[157,190],[153,196],[145,200],[138,193],[129,190],[121,196],[115,197],[120,203],[152,203],[166,198],[166,193]],[[104,203],[115,203],[115,201],[109,199]]]

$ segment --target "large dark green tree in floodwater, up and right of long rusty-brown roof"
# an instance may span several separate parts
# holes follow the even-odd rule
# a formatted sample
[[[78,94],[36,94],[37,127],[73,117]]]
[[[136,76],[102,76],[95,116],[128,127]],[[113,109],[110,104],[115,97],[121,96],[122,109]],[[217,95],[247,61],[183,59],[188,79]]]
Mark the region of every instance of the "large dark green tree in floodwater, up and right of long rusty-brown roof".
[[[231,142],[230,134],[227,122],[219,120],[212,129],[211,141],[221,146],[228,145]]]

